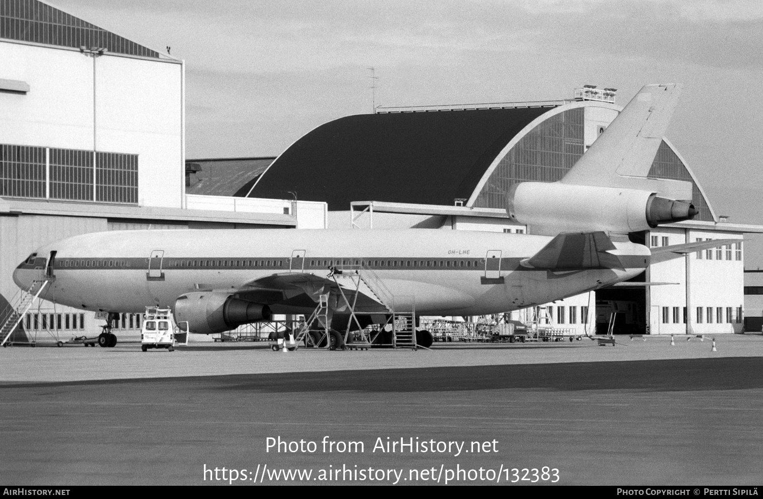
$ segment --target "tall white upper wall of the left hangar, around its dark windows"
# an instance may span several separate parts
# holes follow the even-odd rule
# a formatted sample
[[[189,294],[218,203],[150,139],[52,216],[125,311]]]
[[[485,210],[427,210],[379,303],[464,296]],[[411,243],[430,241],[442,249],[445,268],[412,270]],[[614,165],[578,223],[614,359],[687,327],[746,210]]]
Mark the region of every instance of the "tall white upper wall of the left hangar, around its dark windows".
[[[136,155],[137,196],[108,201],[182,208],[182,62],[6,39],[0,60],[29,86],[0,92],[0,144]]]

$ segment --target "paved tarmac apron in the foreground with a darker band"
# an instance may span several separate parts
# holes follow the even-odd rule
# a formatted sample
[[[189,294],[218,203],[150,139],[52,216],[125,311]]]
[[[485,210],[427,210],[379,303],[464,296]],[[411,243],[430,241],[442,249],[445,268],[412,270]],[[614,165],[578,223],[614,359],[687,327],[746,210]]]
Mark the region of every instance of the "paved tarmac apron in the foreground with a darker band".
[[[14,346],[0,349],[0,483],[227,486],[235,469],[238,485],[397,472],[398,485],[759,485],[763,337],[711,349],[687,336],[417,352]],[[316,450],[277,452],[278,438]],[[324,439],[363,452],[324,452]],[[472,452],[377,446],[400,439]],[[312,475],[276,479],[282,468]]]

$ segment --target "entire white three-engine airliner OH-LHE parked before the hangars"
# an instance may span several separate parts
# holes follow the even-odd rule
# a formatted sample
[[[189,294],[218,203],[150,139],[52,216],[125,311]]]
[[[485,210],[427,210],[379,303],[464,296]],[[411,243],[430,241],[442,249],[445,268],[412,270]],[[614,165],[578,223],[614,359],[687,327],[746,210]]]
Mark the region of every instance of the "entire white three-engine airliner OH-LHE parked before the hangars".
[[[272,314],[307,317],[322,299],[331,327],[339,330],[383,322],[393,310],[417,316],[494,314],[615,285],[639,275],[653,258],[679,258],[731,242],[664,246],[652,256],[652,250],[629,240],[629,233],[697,214],[691,182],[646,177],[678,94],[675,84],[645,85],[563,179],[514,185],[507,193],[507,214],[533,234],[88,233],[40,247],[15,269],[14,282],[27,289],[44,275],[49,284],[40,298],[87,311],[172,307],[177,322],[187,321],[190,332],[203,334],[269,320]],[[357,275],[363,278],[353,281]],[[343,299],[351,281],[352,304]],[[352,323],[355,313],[365,319]],[[334,332],[330,339],[343,342]],[[99,337],[101,346],[115,340]],[[431,335],[419,343],[431,344]]]

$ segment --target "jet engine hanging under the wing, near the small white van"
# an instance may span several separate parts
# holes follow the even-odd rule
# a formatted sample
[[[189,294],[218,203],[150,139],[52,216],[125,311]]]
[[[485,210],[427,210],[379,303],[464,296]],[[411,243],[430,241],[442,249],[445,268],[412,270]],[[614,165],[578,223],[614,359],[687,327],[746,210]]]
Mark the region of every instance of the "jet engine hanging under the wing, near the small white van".
[[[191,333],[222,333],[259,320],[271,320],[267,305],[235,298],[227,293],[186,293],[175,301],[175,322],[188,321]]]

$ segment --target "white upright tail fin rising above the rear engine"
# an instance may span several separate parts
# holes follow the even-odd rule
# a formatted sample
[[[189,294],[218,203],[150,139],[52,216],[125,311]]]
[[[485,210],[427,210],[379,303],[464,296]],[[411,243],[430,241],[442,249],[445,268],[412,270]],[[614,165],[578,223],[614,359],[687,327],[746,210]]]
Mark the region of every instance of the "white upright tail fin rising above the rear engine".
[[[645,85],[559,182],[651,190],[667,198],[691,199],[691,182],[647,179],[678,104],[674,83]]]

